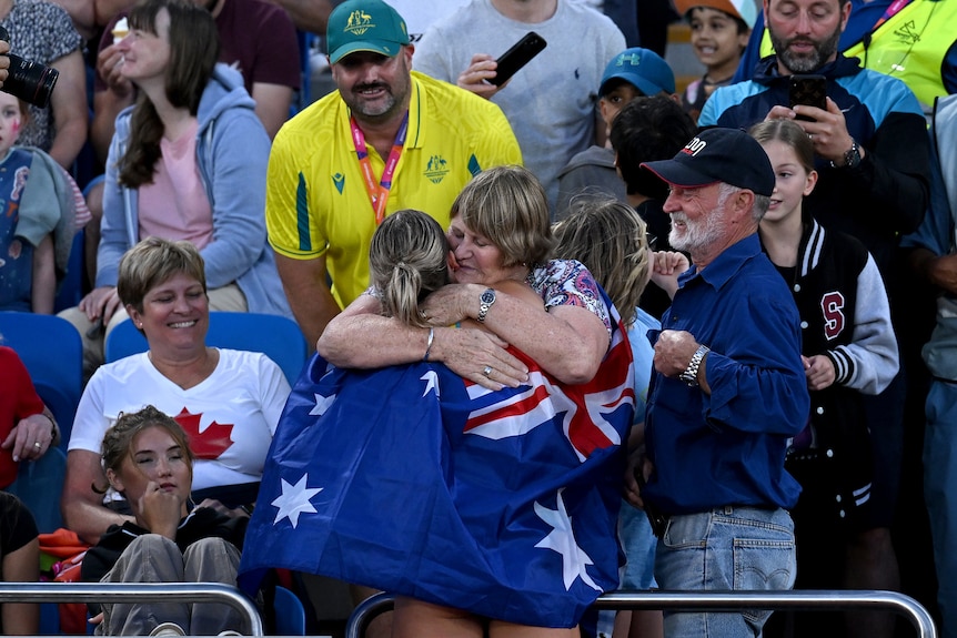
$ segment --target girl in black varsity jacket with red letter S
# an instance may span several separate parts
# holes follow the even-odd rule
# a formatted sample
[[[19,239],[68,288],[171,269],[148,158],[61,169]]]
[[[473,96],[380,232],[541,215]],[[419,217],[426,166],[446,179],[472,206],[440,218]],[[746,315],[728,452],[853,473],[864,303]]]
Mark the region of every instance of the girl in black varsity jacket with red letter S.
[[[874,259],[854,237],[802,213],[817,181],[807,134],[789,120],[762,122],[751,134],[775,170],[758,233],[794,294],[810,389],[808,426],[786,462],[802,485],[793,513],[798,580],[803,588],[840,587],[842,570],[834,566],[845,564],[848,544],[869,525],[875,468],[862,396],[879,393],[897,374],[897,341]]]

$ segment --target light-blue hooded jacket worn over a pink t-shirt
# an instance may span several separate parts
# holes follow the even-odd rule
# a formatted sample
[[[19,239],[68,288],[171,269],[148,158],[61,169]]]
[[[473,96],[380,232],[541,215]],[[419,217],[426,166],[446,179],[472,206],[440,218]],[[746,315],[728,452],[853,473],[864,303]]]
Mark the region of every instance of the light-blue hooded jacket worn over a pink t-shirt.
[[[120,257],[139,241],[138,191],[121,185],[119,160],[130,136],[130,107],[117,117],[107,161],[97,286],[117,285]],[[197,164],[213,214],[213,241],[201,254],[206,285],[235,282],[250,312],[292,317],[265,233],[270,140],[238,71],[216,64],[198,111]]]

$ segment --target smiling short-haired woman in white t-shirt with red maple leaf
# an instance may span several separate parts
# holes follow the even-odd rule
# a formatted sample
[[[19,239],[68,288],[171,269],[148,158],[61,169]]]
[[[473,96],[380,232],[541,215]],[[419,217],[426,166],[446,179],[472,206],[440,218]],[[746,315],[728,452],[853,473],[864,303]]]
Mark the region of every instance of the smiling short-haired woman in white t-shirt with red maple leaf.
[[[193,498],[245,516],[290,387],[260,353],[205,346],[209,328],[203,259],[187,241],[143,240],[120,261],[120,298],[149,351],[101,366],[90,379],[67,455],[63,518],[95,543],[110,525],[131,519],[115,494],[104,498],[103,433],[121,413],[147,404],[174,417],[197,457]]]

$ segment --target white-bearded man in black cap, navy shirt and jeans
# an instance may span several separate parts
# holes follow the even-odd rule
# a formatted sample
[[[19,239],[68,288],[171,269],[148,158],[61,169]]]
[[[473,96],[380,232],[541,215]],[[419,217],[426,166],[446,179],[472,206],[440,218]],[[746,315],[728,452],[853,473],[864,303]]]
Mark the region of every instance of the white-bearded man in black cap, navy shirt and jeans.
[[[810,399],[797,308],[757,236],[774,170],[734,129],[703,131],[642,168],[671,186],[668,241],[692,257],[662,317],[646,457],[627,490],[656,527],[655,579],[665,590],[789,589],[787,510],[800,487],[784,456]],[[667,611],[665,636],[759,636],[768,616]]]

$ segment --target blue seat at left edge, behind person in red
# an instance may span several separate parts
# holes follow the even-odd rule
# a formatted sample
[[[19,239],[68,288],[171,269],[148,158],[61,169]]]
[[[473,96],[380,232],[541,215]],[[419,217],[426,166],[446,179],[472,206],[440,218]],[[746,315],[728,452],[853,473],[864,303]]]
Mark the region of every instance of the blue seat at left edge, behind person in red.
[[[66,450],[83,392],[83,344],[80,333],[56,315],[0,312],[3,345],[20,355],[37,394],[60,425]]]

